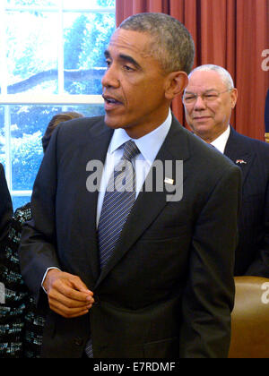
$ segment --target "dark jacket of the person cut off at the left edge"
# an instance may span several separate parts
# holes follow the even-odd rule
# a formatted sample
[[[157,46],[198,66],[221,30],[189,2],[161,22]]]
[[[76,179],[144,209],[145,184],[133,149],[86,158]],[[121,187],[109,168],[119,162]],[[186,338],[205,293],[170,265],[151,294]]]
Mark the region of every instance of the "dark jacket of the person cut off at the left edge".
[[[4,167],[0,164],[0,242],[8,232],[13,215],[13,204],[4,176]]]

